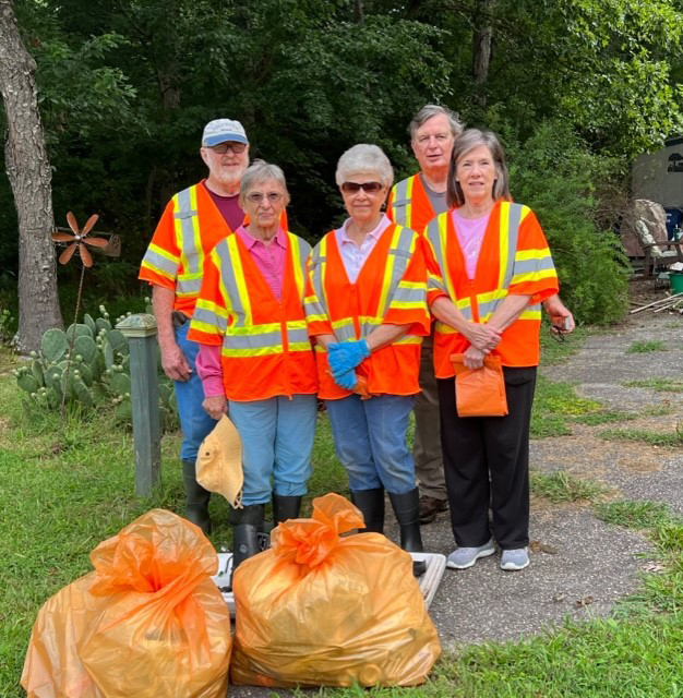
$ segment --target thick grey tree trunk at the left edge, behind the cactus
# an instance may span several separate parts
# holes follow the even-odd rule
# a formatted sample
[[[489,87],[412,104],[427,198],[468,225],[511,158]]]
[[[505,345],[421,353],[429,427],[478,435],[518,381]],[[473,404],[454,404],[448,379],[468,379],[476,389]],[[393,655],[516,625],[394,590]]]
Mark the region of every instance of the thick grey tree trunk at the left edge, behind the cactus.
[[[61,327],[57,296],[51,170],[35,81],[11,0],[0,0],[0,94],[8,134],[5,165],[19,218],[19,347],[40,347],[46,329]]]

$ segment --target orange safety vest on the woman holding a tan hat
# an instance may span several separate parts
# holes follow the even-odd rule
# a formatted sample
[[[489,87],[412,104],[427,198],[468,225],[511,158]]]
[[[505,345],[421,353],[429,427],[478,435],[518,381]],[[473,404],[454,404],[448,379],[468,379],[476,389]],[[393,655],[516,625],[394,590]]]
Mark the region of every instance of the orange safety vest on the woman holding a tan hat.
[[[188,338],[223,345],[228,399],[251,401],[317,392],[303,312],[310,251],[308,242],[287,233],[281,302],[238,236],[223,239],[209,253]]]

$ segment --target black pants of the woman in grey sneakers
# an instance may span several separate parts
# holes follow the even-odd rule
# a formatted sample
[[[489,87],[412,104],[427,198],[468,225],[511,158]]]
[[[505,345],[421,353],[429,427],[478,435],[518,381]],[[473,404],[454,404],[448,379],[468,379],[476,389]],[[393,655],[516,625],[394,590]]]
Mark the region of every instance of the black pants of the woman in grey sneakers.
[[[529,423],[536,368],[503,368],[506,417],[457,416],[455,378],[439,380],[441,444],[458,546],[483,545],[489,530],[502,550],[529,544]]]

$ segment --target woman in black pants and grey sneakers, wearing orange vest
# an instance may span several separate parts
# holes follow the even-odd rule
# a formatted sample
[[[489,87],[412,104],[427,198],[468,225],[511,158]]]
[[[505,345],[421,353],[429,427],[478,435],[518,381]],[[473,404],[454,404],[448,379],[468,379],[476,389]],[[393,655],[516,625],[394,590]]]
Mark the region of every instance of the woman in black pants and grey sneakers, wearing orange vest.
[[[529,423],[539,362],[540,303],[558,292],[548,242],[534,213],[511,202],[503,148],[489,131],[456,141],[451,210],[426,236],[441,441],[457,549],[447,566],[471,567],[502,550],[501,567],[529,564]],[[472,371],[489,354],[503,366],[507,414],[460,417],[453,357]],[[463,389],[463,388],[460,388]],[[503,410],[501,410],[502,412]]]

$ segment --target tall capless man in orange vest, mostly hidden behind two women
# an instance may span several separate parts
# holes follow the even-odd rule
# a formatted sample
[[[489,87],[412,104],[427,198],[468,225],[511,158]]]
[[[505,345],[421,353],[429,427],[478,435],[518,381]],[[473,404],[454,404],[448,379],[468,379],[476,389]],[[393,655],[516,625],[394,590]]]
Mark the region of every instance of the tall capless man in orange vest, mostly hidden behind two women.
[[[427,105],[409,125],[410,146],[420,171],[394,185],[387,215],[407,228],[422,232],[427,224],[447,210],[448,166],[455,139],[463,132],[457,116],[439,105]],[[544,303],[553,326],[574,329],[572,313],[558,294]],[[566,324],[565,324],[566,323]],[[433,334],[426,337],[420,354],[420,387],[415,402],[415,470],[420,484],[420,521],[429,524],[439,512],[448,508],[446,482],[441,455],[439,395],[432,361]]]

